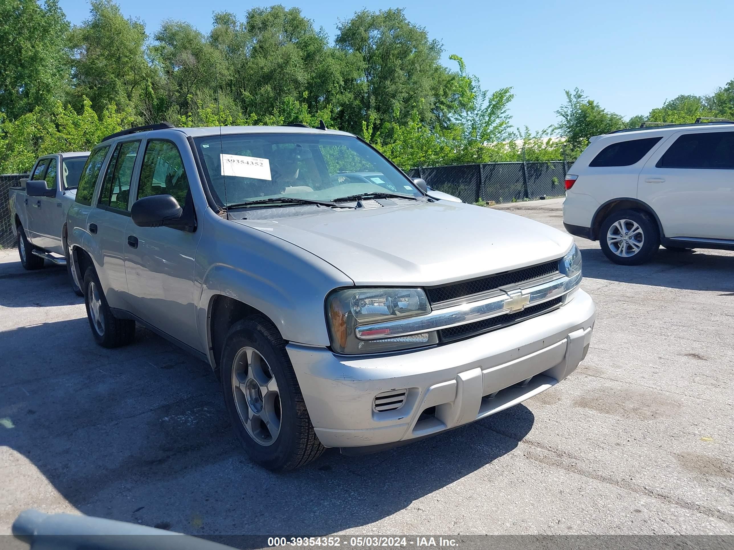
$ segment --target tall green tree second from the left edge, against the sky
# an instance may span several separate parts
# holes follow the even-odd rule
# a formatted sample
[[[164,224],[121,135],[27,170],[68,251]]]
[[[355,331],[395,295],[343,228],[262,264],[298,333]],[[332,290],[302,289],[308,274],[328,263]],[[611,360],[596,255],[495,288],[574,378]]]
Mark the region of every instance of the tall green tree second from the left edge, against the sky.
[[[92,101],[101,114],[115,103],[137,111],[151,71],[143,48],[148,35],[139,19],[126,19],[112,0],[91,0],[90,18],[70,32],[74,103]]]

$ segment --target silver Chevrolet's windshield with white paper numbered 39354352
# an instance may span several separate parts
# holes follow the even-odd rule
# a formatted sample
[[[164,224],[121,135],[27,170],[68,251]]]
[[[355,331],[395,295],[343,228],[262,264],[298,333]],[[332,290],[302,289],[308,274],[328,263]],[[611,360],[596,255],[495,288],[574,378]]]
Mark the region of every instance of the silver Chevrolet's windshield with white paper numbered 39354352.
[[[382,155],[351,136],[237,133],[195,142],[209,183],[225,205],[283,197],[422,196]]]

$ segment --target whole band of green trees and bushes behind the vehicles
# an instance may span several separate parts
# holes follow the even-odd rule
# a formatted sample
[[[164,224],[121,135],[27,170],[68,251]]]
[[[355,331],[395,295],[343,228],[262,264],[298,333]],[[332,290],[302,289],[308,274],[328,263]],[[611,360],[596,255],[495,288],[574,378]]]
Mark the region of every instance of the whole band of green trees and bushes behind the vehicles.
[[[120,128],[163,120],[180,126],[324,120],[361,134],[410,169],[573,161],[589,137],[644,120],[734,117],[732,80],[713,95],[680,95],[626,122],[577,88],[556,111],[558,126],[513,128],[512,88],[482,89],[457,55],[449,56],[452,67],[442,65],[442,45],[400,9],[356,12],[338,23],[332,43],[298,8],[280,4],[247,10],[243,19],[216,12],[208,34],[167,20],[149,38],[142,21],[125,18],[114,0],[92,0],[89,18],[73,29],[57,2],[0,2],[0,172],[23,171],[37,155],[89,149]],[[327,164],[352,166],[342,153]]]

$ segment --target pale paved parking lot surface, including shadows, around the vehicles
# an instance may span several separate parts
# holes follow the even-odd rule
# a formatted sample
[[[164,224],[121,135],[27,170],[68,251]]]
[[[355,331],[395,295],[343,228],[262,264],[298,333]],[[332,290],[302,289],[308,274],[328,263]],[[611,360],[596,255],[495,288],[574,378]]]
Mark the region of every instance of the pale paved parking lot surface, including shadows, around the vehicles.
[[[503,205],[562,227],[562,199]],[[0,251],[0,533],[21,510],[192,535],[734,533],[734,253],[584,249],[597,303],[562,384],[443,436],[253,466],[206,364],[92,340],[64,268]]]

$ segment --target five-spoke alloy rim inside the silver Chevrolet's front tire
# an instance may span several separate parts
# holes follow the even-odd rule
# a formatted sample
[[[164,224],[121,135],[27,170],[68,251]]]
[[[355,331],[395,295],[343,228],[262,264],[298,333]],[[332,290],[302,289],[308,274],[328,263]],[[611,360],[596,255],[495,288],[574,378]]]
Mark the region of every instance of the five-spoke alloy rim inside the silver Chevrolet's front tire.
[[[234,358],[232,391],[237,414],[252,439],[267,447],[280,433],[280,392],[268,362],[255,348]]]

